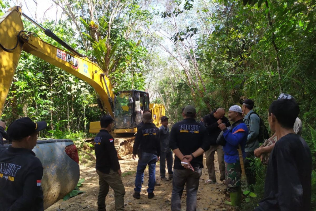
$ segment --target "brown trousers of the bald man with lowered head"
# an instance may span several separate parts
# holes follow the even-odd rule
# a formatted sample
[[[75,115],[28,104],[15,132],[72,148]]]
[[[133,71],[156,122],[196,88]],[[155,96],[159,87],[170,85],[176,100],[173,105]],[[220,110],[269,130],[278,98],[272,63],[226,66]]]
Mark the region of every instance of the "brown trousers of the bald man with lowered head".
[[[209,173],[210,180],[216,181],[214,166],[215,152],[217,152],[217,160],[219,165],[219,171],[221,174],[220,180],[223,181],[225,179],[225,161],[224,151],[221,145],[211,146],[210,149],[205,152],[207,171]]]

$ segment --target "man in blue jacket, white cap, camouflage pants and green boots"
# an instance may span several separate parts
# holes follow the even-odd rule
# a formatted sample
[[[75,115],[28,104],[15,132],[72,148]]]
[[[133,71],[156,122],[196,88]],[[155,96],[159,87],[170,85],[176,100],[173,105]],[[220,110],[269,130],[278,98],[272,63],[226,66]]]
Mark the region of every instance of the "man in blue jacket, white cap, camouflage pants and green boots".
[[[243,158],[246,156],[245,145],[248,128],[243,122],[241,114],[242,110],[240,106],[234,105],[230,107],[228,111],[229,120],[234,122],[231,129],[228,129],[224,123],[218,125],[223,131],[223,137],[226,140],[226,144],[223,146],[225,153],[225,179],[232,206],[239,205],[241,200],[241,167],[238,149],[241,148]]]

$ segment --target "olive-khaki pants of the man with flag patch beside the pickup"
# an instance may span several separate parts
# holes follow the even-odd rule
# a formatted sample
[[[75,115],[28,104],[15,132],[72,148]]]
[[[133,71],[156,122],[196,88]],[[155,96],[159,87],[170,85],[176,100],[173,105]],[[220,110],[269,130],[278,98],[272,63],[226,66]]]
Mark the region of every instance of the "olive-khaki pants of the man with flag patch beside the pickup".
[[[109,187],[114,191],[115,210],[124,211],[125,187],[118,172],[112,169],[108,174],[96,170],[99,175],[98,211],[106,211],[105,198]]]

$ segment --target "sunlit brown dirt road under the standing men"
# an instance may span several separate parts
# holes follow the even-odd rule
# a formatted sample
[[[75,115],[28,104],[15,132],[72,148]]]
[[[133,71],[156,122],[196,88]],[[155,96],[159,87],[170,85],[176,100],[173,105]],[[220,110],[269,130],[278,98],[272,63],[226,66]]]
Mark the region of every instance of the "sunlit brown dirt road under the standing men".
[[[148,168],[145,170],[144,185],[142,187],[141,198],[134,199],[132,193],[134,192],[134,181],[135,173],[137,167],[137,160],[133,160],[131,155],[123,157],[123,160],[120,160],[121,170],[123,172],[123,183],[125,185],[126,195],[125,195],[125,210],[126,211],[139,211],[139,210],[153,210],[153,211],[165,211],[170,210],[170,200],[171,200],[171,191],[172,191],[172,181],[162,182],[161,186],[155,186],[155,197],[153,199],[147,198],[147,184],[148,184]],[[217,158],[215,161],[216,166],[216,177],[219,181],[219,171]],[[205,165],[205,156],[204,156],[204,169],[202,177],[200,178],[200,184],[197,194],[197,211],[203,210],[215,210],[215,211],[232,211],[229,206],[223,204],[227,198],[224,194],[225,186],[222,183],[218,184],[205,184],[204,181],[208,179],[207,169]],[[98,175],[95,172],[94,162],[89,162],[88,164],[80,165],[80,178],[85,178],[86,181],[83,183],[83,186],[80,188],[84,191],[83,194],[77,195],[73,198],[70,198],[67,201],[60,200],[46,211],[60,211],[60,210],[69,210],[69,211],[96,211],[97,210],[97,196],[99,188],[99,179]],[[159,162],[156,165],[156,178],[159,178]],[[185,210],[185,199],[186,192],[182,195],[182,210]],[[109,194],[106,197],[106,210],[114,211],[114,193],[110,189]]]

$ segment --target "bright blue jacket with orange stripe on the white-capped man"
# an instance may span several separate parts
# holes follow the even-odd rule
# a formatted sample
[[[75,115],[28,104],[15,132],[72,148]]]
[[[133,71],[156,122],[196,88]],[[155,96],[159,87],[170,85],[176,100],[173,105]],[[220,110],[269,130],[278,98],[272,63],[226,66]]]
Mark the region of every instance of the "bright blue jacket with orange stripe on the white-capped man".
[[[235,125],[237,126],[234,127]],[[239,154],[237,151],[238,145],[241,146],[243,157],[246,157],[245,146],[248,136],[248,128],[242,120],[234,122],[231,127],[233,127],[232,130],[228,130],[227,128],[223,130],[223,137],[226,140],[226,144],[223,146],[223,151],[225,153],[224,160],[226,163],[237,163],[239,161]]]

